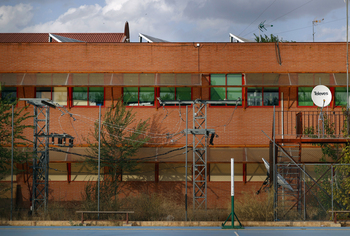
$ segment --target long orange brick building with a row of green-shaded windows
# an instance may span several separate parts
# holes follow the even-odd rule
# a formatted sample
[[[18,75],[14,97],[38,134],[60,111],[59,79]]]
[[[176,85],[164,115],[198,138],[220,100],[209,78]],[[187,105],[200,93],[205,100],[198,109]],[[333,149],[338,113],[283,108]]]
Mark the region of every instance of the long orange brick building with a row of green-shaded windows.
[[[55,35],[59,34],[53,34],[53,41]],[[5,36],[0,34],[0,39]],[[61,36],[74,38],[73,34]],[[146,160],[140,163],[140,171],[123,175],[128,186],[124,195],[176,191],[183,196],[185,192],[183,150],[162,155],[185,144],[184,135],[166,138],[185,129],[185,107],[162,107],[157,97],[241,98],[236,109],[232,105],[208,106],[208,128],[219,136],[208,147],[209,208],[228,206],[231,158],[236,163],[238,198],[242,191],[258,190],[265,180],[262,158],[269,158],[270,140],[262,131],[272,136],[274,106],[290,114],[317,112],[310,92],[318,84],[329,86],[333,94],[327,111],[340,112],[346,104],[345,43],[123,43],[127,38],[122,36],[118,42],[76,38],[83,42],[69,43],[0,40],[2,95],[47,97],[75,116],[73,121],[57,109],[51,111],[50,132],[75,137],[74,147],[64,151],[85,153],[84,138],[98,119],[99,105],[104,113],[112,102],[123,98],[137,119],[150,119],[149,135],[154,139],[137,156]],[[20,101],[18,106],[24,105]],[[282,123],[293,130],[294,118],[286,119],[287,115]],[[191,122],[189,112],[190,127]],[[295,131],[283,132],[278,135],[295,136]],[[26,135],[31,138],[32,130]],[[318,162],[321,155],[318,148],[305,145],[301,162]],[[96,176],[81,156],[50,151],[49,201],[81,200],[86,182]],[[17,175],[16,183],[18,201],[28,202],[26,172]],[[189,193],[191,188],[190,182]]]

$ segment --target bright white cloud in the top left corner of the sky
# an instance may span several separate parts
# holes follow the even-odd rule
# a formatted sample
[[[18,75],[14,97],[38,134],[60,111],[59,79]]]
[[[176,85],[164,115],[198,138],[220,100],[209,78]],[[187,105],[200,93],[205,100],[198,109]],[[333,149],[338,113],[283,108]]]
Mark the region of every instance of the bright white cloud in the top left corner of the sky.
[[[18,32],[33,18],[33,7],[29,4],[0,6],[0,29],[2,32]]]

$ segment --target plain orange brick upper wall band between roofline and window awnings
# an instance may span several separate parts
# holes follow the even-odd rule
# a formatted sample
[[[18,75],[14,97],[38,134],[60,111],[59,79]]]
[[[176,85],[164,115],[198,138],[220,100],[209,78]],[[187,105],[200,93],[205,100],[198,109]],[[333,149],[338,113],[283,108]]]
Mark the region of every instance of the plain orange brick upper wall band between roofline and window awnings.
[[[345,43],[2,43],[0,72],[345,72]]]

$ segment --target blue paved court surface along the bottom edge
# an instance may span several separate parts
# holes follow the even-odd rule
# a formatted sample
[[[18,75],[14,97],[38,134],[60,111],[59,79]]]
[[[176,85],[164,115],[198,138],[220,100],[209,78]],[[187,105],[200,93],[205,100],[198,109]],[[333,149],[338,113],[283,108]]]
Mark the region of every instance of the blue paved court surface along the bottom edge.
[[[96,226],[0,226],[2,236],[108,236],[108,235],[142,235],[142,236],[349,236],[350,228],[300,228],[300,227],[248,227],[241,230],[221,229],[219,227],[96,227]]]

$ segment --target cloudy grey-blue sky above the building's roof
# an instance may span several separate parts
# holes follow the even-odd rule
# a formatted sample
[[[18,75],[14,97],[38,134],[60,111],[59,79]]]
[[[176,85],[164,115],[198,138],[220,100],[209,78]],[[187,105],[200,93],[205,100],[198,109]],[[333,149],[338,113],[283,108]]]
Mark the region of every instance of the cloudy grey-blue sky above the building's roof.
[[[324,19],[322,21],[322,19]],[[313,27],[313,21],[320,20]],[[144,33],[172,42],[228,42],[267,31],[284,40],[346,40],[344,0],[0,0],[0,32]]]

